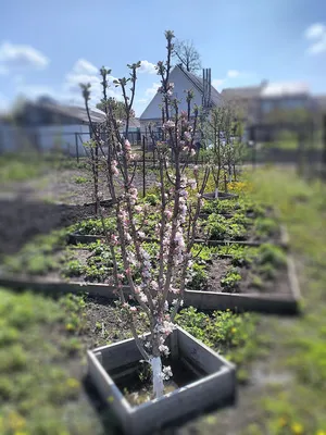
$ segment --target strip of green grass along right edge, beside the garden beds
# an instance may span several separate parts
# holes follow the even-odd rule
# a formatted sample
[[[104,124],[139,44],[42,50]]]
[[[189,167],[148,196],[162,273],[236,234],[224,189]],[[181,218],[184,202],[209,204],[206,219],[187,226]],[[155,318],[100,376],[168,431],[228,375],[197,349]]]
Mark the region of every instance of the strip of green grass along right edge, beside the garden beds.
[[[258,171],[251,179],[251,195],[277,206],[288,226],[299,262],[304,314],[291,321],[266,321],[267,336],[277,352],[273,370],[287,371],[292,377],[271,384],[267,394],[258,398],[259,417],[243,433],[322,435],[326,433],[326,187],[276,169]],[[278,256],[274,260],[283,261]]]

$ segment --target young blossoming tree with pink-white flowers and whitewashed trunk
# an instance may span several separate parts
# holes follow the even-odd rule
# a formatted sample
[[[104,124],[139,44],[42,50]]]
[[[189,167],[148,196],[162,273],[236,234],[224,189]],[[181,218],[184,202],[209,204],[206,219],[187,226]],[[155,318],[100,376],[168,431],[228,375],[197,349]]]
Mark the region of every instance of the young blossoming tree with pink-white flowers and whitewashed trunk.
[[[209,177],[209,167],[188,167],[187,159],[196,154],[195,135],[198,109],[190,110],[191,99],[187,94],[188,111],[179,112],[179,102],[173,99],[173,83],[170,82],[171,58],[174,34],[165,32],[166,61],[158,62],[162,95],[162,140],[155,139],[159,160],[158,206],[150,206],[139,198],[134,183],[137,161],[128,141],[128,125],[140,62],[128,65],[129,77],[114,82],[122,91],[125,104],[124,136],[120,134],[121,120],[108,98],[110,70],[101,69],[105,122],[101,134],[93,129],[101,161],[105,162],[105,185],[113,200],[115,228],[102,224],[105,240],[113,262],[113,284],[118,294],[118,307],[126,320],[145,361],[152,369],[153,395],[163,395],[163,381],[172,375],[170,366],[163,366],[162,356],[170,352],[166,338],[175,328],[174,318],[183,304],[184,294],[192,270],[191,248],[195,243],[197,221],[202,195]],[[90,85],[82,85],[89,113]],[[129,91],[128,88],[129,87]],[[91,123],[91,121],[90,121]],[[171,164],[170,156],[173,156]],[[181,163],[181,161],[184,163]],[[186,163],[185,163],[186,161]],[[189,177],[189,174],[190,177]],[[158,217],[155,237],[147,235],[149,213]],[[123,268],[118,266],[122,258]],[[123,287],[123,284],[127,284]],[[137,302],[133,304],[131,301]],[[146,316],[149,335],[138,336],[136,322]]]

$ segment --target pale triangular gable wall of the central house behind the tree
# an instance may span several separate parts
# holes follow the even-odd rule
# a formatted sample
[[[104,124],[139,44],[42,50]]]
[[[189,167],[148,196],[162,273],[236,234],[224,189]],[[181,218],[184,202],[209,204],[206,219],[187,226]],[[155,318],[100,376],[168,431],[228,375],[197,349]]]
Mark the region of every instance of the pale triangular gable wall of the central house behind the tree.
[[[200,90],[187,78],[187,76],[180,71],[179,67],[175,67],[170,74],[170,82],[174,83],[174,92],[176,92],[176,98],[180,100],[179,111],[188,109],[188,104],[186,101],[185,90],[192,89],[193,98],[191,100],[191,110],[193,105],[202,104],[202,96]],[[160,109],[160,104],[162,104],[162,95],[158,94],[154,96],[149,105],[145,109],[143,113],[140,116],[141,125],[145,125],[146,120],[161,120],[162,111]]]

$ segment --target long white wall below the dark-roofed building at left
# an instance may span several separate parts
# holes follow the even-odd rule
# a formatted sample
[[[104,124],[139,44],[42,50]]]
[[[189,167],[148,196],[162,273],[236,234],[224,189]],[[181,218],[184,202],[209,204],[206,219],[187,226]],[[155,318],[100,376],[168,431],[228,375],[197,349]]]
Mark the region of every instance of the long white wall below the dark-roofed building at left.
[[[83,156],[85,154],[85,149],[82,141],[90,139],[88,125],[73,124],[18,128],[0,124],[0,152],[37,149],[39,151],[61,150],[71,156],[76,156],[76,136],[78,153]]]

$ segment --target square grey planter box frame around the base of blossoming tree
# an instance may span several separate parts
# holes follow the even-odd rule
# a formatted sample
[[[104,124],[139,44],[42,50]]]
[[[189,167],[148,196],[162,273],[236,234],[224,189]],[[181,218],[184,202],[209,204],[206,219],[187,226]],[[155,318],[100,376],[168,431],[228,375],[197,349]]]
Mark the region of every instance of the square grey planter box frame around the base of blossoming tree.
[[[236,398],[234,364],[177,327],[166,340],[174,360],[187,365],[201,378],[160,399],[133,407],[110,372],[141,360],[135,339],[88,351],[88,374],[101,398],[110,402],[128,435],[153,434],[172,422],[185,421],[206,409],[231,403]]]

